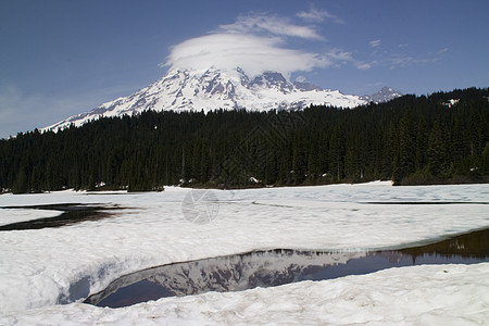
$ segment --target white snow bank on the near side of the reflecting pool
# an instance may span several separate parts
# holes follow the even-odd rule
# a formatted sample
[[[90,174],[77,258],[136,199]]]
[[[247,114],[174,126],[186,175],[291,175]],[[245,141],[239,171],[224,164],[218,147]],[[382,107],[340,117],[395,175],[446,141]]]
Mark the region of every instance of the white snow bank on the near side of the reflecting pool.
[[[391,268],[242,292],[164,298],[129,308],[72,303],[0,317],[3,325],[482,325],[489,263]]]

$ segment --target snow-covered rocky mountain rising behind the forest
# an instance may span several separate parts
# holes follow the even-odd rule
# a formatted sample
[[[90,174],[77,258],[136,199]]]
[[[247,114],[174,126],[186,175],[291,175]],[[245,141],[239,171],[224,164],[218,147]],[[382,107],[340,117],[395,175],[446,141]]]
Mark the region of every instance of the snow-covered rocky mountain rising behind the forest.
[[[376,99],[380,98],[343,95],[338,90],[322,89],[309,83],[291,83],[277,72],[265,72],[260,76],[249,77],[240,68],[233,72],[218,68],[208,71],[174,68],[155,83],[128,97],[73,115],[46,127],[45,130],[57,131],[72,124],[80,126],[101,116],[134,115],[147,110],[267,111],[302,109],[310,104],[354,108],[377,101]]]

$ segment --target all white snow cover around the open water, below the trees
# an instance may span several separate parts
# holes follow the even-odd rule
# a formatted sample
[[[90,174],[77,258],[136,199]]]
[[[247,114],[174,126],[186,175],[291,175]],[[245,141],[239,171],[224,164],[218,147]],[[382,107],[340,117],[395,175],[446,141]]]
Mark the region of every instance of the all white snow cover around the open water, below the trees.
[[[121,275],[171,262],[273,248],[352,252],[412,246],[489,227],[487,202],[489,185],[388,183],[3,195],[0,206],[86,203],[115,209],[113,216],[99,221],[0,231],[0,325],[484,324],[489,321],[489,263],[391,268],[276,288],[165,298],[122,309],[57,303],[70,298],[70,288],[80,280],[86,280],[88,296]],[[57,214],[3,209],[0,225]]]

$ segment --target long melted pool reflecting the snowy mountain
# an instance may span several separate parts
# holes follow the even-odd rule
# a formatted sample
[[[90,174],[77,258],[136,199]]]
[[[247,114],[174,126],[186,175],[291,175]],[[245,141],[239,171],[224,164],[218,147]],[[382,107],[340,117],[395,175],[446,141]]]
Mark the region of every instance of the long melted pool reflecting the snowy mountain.
[[[400,250],[313,252],[277,249],[174,263],[131,273],[88,297],[98,306],[127,306],[163,297],[240,291],[323,280],[390,267],[489,261],[489,228]]]

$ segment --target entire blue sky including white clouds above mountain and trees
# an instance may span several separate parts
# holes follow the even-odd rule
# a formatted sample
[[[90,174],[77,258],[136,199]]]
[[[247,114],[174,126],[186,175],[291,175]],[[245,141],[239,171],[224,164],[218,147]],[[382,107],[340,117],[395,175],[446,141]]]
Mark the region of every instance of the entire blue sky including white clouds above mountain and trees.
[[[488,87],[488,13],[487,0],[0,0],[0,137],[191,65],[354,95]]]

